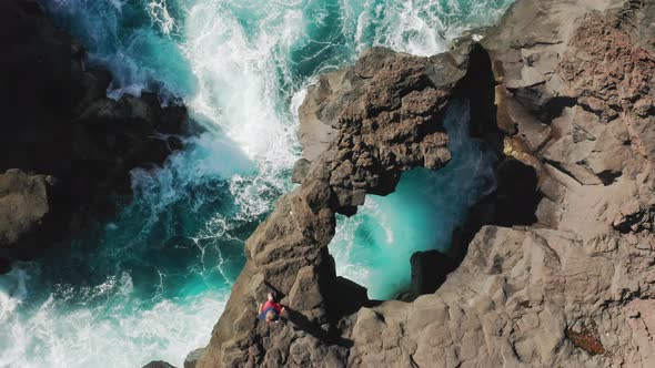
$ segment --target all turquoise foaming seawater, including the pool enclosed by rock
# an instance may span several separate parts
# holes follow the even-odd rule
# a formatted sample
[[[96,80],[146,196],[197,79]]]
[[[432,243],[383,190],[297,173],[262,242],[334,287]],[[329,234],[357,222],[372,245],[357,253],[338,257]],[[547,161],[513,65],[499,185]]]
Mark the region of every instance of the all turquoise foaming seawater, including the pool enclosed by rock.
[[[370,45],[443,51],[510,2],[43,0],[89,47],[90,63],[113,72],[110,95],[179,95],[208,132],[164,168],[134,171],[134,201],[115,218],[0,276],[0,367],[181,366],[209,340],[243,266],[243,242],[292,188],[295,111],[315,76]],[[453,122],[465,114],[455,111]],[[407,249],[446,244],[447,223],[470,203],[440,207],[455,192],[440,194],[432,175],[406,174],[397,193],[370,197],[360,215],[340,221],[331,245],[337,270],[373,296],[402,286],[392,277],[407,274]],[[476,183],[470,172],[458,175],[446,182]],[[347,234],[357,242],[343,241]]]

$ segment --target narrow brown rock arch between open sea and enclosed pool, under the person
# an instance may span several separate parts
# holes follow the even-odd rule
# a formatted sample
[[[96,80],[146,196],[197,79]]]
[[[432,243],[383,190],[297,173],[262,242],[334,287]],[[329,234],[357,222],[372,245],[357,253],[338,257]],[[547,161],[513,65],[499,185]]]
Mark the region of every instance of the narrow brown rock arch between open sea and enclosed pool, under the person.
[[[442,115],[466,75],[471,48],[433,58],[375,48],[309,91],[300,109],[305,160],[294,173],[301,186],[248,239],[248,263],[198,367],[346,361],[339,317],[367,300],[334,274],[334,214],[353,214],[366,193],[391,193],[405,170],[450,160]],[[269,336],[256,320],[256,298],[271,288],[284,296],[291,323]]]

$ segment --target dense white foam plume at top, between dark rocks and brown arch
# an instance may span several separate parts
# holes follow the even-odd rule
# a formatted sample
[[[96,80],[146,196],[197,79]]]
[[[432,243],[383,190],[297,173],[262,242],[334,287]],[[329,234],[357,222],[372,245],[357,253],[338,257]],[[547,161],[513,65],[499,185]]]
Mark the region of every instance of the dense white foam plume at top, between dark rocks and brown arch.
[[[229,7],[201,1],[189,11],[184,53],[201,81],[189,104],[209,116],[255,160],[289,167],[295,160],[292,129],[279,115],[276,48],[298,35],[301,13],[271,12],[249,33]]]

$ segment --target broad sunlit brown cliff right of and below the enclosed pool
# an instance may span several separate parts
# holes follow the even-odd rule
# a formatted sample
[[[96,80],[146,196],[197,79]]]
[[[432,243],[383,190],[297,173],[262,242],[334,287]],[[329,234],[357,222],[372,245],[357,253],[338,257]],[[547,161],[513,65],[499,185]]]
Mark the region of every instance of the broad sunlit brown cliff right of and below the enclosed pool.
[[[360,310],[352,366],[655,364],[653,14],[518,1],[482,41],[505,153],[537,173],[536,224],[484,227],[435,294]]]

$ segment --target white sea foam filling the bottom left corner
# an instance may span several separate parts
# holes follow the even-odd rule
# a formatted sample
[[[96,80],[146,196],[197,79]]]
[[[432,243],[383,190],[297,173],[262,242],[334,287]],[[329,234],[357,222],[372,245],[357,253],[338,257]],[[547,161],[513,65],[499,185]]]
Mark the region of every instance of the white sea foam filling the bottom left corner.
[[[24,285],[21,269],[8,277]],[[2,288],[0,301],[4,308],[34,300]],[[129,274],[87,290],[60,286],[28,311],[0,319],[0,367],[134,367],[153,359],[182,366],[187,352],[206,344],[206,323],[220,316],[225,294],[140,303]]]

